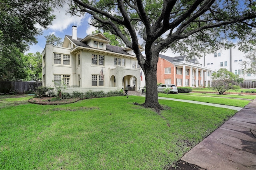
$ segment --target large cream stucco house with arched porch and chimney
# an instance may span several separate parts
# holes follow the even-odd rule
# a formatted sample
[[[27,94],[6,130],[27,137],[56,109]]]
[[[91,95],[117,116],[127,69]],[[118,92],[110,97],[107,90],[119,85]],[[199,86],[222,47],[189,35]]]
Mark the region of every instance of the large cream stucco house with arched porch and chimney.
[[[78,38],[73,26],[72,36],[65,36],[62,47],[46,44],[42,53],[43,86],[54,88],[63,81],[67,92],[108,92],[128,86],[139,90],[140,66],[134,52],[108,43],[102,33]]]

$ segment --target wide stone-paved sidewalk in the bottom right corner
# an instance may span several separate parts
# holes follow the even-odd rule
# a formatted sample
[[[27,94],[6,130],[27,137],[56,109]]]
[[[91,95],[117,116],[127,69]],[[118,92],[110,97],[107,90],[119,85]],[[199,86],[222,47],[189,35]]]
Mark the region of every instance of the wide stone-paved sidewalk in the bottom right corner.
[[[206,170],[256,170],[256,100],[181,159]]]

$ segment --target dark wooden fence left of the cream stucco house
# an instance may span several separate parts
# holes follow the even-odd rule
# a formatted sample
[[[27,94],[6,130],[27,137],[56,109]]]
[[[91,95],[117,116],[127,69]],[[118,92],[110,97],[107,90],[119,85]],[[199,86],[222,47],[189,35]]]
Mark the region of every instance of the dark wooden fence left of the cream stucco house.
[[[0,82],[0,93],[29,93],[39,86],[42,82]]]

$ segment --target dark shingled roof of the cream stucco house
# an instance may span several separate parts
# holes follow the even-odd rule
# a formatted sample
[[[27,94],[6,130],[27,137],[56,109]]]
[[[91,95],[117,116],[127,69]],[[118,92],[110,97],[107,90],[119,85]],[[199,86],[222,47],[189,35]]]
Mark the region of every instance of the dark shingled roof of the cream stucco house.
[[[90,47],[89,45],[87,45],[86,43],[83,43],[81,42],[82,41],[82,38],[77,38],[77,39],[72,39],[72,36],[70,35],[66,35],[74,44],[78,45],[78,46],[81,46],[81,47],[89,47],[89,48],[93,48],[93,47]],[[109,45],[107,44],[106,45],[106,50],[107,51],[111,51],[111,52],[114,52],[114,53],[120,53],[120,54],[124,54],[124,55],[131,55],[125,51],[122,51],[122,47],[118,47],[118,46],[114,46],[114,45]]]

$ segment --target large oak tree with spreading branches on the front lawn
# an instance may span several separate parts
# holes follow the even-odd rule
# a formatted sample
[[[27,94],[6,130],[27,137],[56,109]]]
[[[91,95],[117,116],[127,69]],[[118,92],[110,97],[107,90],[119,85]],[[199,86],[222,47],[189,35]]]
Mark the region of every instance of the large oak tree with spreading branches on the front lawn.
[[[134,50],[146,79],[143,105],[159,110],[158,54],[170,48],[193,56],[230,47],[228,39],[253,41],[255,5],[253,0],[71,0],[69,12],[90,14],[92,25],[117,35]],[[146,59],[139,49],[141,38]]]

